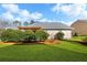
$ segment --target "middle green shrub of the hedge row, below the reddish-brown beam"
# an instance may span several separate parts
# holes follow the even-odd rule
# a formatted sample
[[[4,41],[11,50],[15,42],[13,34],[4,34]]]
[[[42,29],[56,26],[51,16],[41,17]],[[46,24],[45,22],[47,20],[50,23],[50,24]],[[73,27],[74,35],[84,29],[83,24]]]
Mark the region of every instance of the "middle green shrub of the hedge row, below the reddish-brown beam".
[[[34,32],[32,30],[24,31],[24,41],[33,41],[35,40]]]

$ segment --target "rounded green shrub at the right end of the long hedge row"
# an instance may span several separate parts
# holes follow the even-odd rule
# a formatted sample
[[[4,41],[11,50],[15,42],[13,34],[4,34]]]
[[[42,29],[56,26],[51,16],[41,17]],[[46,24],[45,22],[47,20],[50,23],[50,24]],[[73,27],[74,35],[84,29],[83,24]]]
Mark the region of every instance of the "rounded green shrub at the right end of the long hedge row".
[[[36,40],[37,41],[44,41],[48,37],[48,33],[46,33],[45,31],[43,30],[37,30],[35,32],[35,36],[36,36]]]

